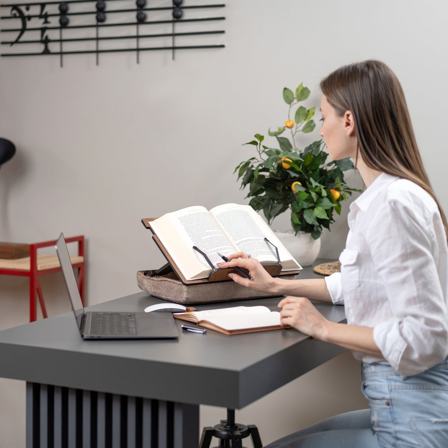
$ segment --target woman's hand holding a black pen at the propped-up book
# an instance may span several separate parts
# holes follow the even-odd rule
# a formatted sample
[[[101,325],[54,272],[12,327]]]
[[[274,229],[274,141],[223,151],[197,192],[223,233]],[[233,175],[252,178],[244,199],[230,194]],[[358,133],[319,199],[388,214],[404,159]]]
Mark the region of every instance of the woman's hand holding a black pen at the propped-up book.
[[[262,293],[276,293],[276,280],[272,278],[256,258],[250,258],[250,255],[244,252],[237,252],[236,254],[227,257],[230,261],[227,263],[217,263],[221,269],[239,266],[249,271],[249,275],[253,280],[246,279],[237,273],[229,274],[228,276],[235,282],[246,286],[247,288],[259,291]]]

